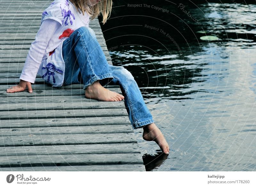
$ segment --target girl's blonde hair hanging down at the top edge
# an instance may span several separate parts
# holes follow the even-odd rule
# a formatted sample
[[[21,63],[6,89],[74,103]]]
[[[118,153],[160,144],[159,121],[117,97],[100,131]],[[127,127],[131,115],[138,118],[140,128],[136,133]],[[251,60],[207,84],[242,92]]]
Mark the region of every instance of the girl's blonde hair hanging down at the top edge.
[[[107,19],[110,16],[111,9],[112,9],[112,0],[101,0],[99,3],[90,6],[88,3],[89,0],[69,0],[71,3],[73,3],[76,7],[76,10],[79,11],[79,9],[83,12],[87,12],[92,19],[99,16],[101,13],[103,20],[102,23],[105,24]]]

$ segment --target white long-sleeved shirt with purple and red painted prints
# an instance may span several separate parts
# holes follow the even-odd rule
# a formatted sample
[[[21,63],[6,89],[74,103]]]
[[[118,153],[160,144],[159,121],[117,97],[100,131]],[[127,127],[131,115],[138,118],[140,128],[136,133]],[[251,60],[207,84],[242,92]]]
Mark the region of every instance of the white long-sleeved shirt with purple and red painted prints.
[[[65,72],[62,44],[79,27],[89,27],[89,18],[86,12],[84,15],[77,12],[69,0],[54,0],[42,14],[41,26],[31,43],[20,79],[34,83],[39,74],[45,82],[60,87]]]

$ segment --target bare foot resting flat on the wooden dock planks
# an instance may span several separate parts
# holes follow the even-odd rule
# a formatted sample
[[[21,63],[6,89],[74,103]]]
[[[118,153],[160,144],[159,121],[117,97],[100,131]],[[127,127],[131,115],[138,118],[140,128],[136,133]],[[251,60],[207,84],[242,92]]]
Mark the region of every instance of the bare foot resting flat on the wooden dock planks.
[[[101,101],[122,101],[122,99],[124,99],[124,96],[121,94],[110,91],[101,86],[99,81],[93,82],[91,86],[86,88],[85,97]]]

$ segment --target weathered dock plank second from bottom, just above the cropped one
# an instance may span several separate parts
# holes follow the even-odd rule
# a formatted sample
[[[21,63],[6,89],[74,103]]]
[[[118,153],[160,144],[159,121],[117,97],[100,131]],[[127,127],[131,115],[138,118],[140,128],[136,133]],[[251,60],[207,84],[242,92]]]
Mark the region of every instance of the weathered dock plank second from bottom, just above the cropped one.
[[[141,164],[139,153],[2,156],[0,167]]]

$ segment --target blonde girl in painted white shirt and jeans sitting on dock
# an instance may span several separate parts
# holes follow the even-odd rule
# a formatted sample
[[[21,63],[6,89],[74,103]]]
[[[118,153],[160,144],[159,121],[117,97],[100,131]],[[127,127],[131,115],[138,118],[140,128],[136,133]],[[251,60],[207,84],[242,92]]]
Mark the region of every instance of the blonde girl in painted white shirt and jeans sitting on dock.
[[[101,101],[121,101],[134,129],[143,128],[143,138],[155,141],[162,151],[169,146],[156,127],[132,74],[122,66],[109,65],[89,27],[89,18],[100,13],[105,24],[112,8],[112,0],[54,0],[42,14],[41,26],[31,43],[20,83],[6,91],[24,91],[39,74],[53,87],[84,84],[85,97]],[[122,94],[104,85],[119,85]]]

